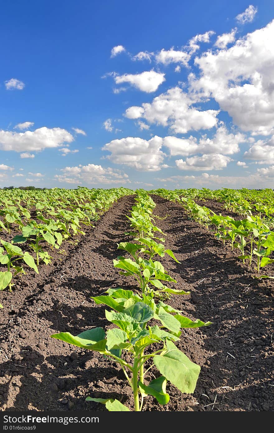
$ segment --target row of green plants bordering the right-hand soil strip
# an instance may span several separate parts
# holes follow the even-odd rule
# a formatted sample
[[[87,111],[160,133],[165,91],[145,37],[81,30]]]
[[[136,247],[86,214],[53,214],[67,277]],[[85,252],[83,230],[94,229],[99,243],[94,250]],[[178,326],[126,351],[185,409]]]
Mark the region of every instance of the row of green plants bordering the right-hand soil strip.
[[[242,220],[235,220],[231,216],[221,214],[216,215],[208,207],[198,205],[193,198],[182,197],[179,191],[161,189],[155,193],[181,204],[191,218],[204,224],[207,230],[209,227],[214,227],[216,238],[222,241],[223,245],[229,242],[232,250],[239,249],[238,258],[243,263],[247,260],[248,266],[256,269],[256,278],[273,278],[268,275],[260,275],[261,268],[274,263],[274,259],[271,258],[274,251],[274,232],[271,230],[271,221],[271,225],[268,225],[265,218],[263,219],[259,214],[253,216],[251,211]]]

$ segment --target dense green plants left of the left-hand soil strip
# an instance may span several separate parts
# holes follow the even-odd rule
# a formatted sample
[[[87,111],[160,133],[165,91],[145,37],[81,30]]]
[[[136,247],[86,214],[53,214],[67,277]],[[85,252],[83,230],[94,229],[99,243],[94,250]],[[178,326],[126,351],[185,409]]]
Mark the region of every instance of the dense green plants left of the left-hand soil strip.
[[[84,235],[83,227],[93,226],[110,205],[131,194],[127,188],[110,190],[78,187],[77,190],[0,191],[0,230],[2,236],[18,232],[10,242],[0,237],[0,290],[12,290],[12,279],[26,274],[24,266],[38,273],[40,262],[51,263],[50,251],[62,242]],[[25,244],[24,251],[15,244]],[[27,251],[26,251],[27,250]],[[34,257],[32,256],[34,254]]]

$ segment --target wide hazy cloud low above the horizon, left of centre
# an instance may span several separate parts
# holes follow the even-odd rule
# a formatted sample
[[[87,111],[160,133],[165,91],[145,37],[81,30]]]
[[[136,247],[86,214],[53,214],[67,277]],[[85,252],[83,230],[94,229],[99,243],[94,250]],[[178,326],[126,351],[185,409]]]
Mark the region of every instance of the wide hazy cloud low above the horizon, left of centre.
[[[69,184],[129,184],[129,178],[121,170],[101,165],[88,164],[61,169],[63,174],[56,174],[55,179]]]

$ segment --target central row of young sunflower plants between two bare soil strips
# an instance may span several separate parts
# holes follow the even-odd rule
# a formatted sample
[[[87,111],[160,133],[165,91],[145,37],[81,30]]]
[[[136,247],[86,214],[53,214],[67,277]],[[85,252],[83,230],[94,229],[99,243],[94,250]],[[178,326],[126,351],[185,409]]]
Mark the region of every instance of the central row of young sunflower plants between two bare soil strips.
[[[152,215],[155,203],[143,190],[137,191],[135,200],[136,205],[128,217],[131,230],[126,233],[133,236],[133,240],[118,244],[124,255],[113,260],[113,266],[119,269],[125,282],[126,278],[135,279],[136,290],[111,288],[106,294],[92,297],[96,304],[108,307],[106,319],[116,327],[106,332],[98,327],[77,336],[62,332],[52,337],[115,360],[132,389],[134,410],[141,411],[148,395],[155,397],[161,405],[169,402],[168,381],[182,393],[194,392],[200,366],[175,343],[180,340],[182,328],[208,326],[211,322],[193,321],[164,303],[171,294],[190,292],[169,287],[177,281],[157,260],[167,254],[178,262],[174,253],[165,249],[164,233],[155,225]],[[158,370],[158,377],[148,382],[145,378],[153,367]],[[87,397],[86,400],[105,404],[110,411],[130,410],[113,398]]]

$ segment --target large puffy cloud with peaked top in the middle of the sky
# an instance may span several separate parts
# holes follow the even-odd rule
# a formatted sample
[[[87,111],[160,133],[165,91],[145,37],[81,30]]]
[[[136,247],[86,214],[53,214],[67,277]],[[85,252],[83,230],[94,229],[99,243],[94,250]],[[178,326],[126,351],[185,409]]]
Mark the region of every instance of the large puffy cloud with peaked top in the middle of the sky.
[[[176,134],[216,126],[218,110],[200,111],[191,107],[191,104],[190,97],[179,87],[174,87],[155,97],[152,103],[129,107],[125,116],[129,119],[143,117],[148,123],[170,126]]]

